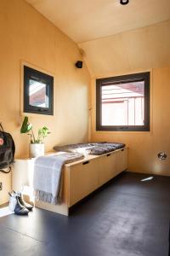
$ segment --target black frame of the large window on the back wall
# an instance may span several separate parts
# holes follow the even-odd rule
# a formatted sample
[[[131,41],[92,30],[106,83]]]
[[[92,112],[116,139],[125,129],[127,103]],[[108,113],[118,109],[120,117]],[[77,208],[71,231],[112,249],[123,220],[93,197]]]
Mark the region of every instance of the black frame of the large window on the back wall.
[[[102,86],[108,85],[109,83],[123,84],[134,81],[144,81],[144,125],[101,125]],[[150,72],[96,79],[96,131],[150,131]]]

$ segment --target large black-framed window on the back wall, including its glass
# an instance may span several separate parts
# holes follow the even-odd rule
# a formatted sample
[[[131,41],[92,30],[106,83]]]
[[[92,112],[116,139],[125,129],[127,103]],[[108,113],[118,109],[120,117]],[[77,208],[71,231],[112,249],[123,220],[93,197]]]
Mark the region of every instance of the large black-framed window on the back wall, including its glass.
[[[97,131],[150,131],[150,73],[96,80]]]

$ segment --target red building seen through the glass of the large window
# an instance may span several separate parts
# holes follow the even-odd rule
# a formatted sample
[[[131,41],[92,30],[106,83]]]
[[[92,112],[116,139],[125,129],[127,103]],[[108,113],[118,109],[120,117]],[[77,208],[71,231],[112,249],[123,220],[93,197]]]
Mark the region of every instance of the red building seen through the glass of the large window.
[[[144,125],[144,81],[102,86],[102,125]]]

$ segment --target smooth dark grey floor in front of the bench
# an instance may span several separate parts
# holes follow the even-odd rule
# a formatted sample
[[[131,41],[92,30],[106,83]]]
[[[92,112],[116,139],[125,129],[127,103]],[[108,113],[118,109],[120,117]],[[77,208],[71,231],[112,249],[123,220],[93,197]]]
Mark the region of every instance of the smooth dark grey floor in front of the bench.
[[[0,218],[0,256],[167,256],[170,177],[123,172],[71,211]]]

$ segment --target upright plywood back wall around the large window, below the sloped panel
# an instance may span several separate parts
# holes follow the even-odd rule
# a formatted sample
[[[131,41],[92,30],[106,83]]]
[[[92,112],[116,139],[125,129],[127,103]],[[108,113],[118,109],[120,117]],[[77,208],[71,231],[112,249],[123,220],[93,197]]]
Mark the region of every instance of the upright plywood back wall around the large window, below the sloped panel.
[[[96,131],[95,79],[92,81],[92,141],[126,143],[129,147],[128,170],[170,175],[170,67],[150,71],[150,131]],[[158,160],[159,152],[167,160]]]

